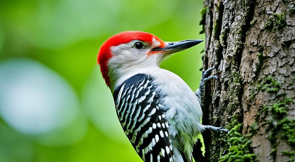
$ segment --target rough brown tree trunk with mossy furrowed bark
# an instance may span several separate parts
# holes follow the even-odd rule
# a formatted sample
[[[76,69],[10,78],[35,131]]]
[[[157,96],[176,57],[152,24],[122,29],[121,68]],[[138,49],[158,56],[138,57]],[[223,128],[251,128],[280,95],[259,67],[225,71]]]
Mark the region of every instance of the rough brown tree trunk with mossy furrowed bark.
[[[204,0],[208,161],[295,161],[294,0]]]

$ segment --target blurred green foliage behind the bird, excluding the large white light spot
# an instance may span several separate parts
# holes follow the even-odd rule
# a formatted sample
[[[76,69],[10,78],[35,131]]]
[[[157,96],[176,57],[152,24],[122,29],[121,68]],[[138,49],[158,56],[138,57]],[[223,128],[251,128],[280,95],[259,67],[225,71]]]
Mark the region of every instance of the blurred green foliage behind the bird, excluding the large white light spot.
[[[0,63],[16,57],[41,62],[65,78],[81,103],[73,123],[42,135],[22,134],[0,118],[0,161],[140,161],[122,129],[104,123],[112,116],[119,125],[96,65],[98,49],[127,30],[150,32],[168,42],[204,39],[199,35],[202,7],[202,0],[0,1]],[[161,67],[196,90],[202,49],[204,43],[173,54]]]

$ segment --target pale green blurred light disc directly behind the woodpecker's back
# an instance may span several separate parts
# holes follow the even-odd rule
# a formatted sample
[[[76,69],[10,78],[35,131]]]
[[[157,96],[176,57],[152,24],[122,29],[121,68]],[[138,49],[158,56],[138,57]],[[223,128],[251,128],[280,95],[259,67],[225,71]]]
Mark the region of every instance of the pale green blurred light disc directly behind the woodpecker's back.
[[[94,68],[84,87],[82,103],[91,122],[106,137],[115,142],[130,144],[119,123],[112,93],[106,86],[98,66]]]

